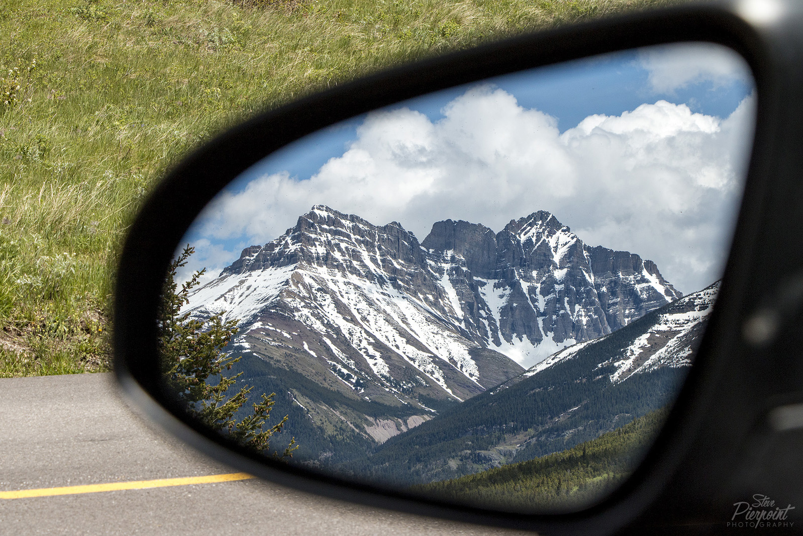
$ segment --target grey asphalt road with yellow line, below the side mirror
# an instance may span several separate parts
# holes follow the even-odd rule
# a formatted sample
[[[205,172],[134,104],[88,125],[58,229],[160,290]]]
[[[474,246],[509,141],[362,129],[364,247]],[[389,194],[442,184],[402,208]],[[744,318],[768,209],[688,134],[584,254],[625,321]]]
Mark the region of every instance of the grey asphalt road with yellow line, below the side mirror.
[[[0,492],[235,471],[132,413],[111,374],[0,379]],[[258,480],[0,499],[0,534],[532,536]]]

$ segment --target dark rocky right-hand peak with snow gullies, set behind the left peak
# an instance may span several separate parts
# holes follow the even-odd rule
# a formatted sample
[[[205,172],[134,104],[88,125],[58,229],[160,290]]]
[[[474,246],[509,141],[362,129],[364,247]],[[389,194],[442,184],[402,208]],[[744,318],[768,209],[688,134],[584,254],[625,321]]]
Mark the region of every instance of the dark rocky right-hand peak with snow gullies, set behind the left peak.
[[[512,220],[498,234],[447,219],[422,247],[458,297],[451,320],[523,365],[682,296],[652,261],[590,248],[546,211]]]

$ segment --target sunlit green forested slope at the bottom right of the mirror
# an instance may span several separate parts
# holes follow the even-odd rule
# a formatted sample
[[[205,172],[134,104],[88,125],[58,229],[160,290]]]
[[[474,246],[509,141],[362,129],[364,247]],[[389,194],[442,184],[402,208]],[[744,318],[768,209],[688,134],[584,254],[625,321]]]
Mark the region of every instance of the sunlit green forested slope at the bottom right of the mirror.
[[[633,472],[666,420],[666,409],[563,452],[449,481],[413,493],[510,512],[556,512],[589,506]]]

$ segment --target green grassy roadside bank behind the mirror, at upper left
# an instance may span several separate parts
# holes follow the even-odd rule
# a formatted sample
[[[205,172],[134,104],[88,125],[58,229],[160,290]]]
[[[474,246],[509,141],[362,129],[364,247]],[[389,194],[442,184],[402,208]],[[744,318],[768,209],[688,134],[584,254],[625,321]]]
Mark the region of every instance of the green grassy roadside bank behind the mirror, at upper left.
[[[220,129],[394,63],[670,0],[0,6],[0,376],[108,370],[120,243]]]

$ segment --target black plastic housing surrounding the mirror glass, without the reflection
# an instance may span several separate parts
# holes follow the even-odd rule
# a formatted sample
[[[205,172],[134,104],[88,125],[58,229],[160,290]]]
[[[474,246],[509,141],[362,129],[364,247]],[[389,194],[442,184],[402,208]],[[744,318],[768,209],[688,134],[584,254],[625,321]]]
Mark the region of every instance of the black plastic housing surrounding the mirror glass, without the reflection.
[[[243,471],[412,513],[550,534],[609,534],[623,527],[633,534],[659,529],[687,534],[689,526],[710,534],[725,530],[733,505],[756,493],[798,504],[803,500],[803,463],[794,454],[803,447],[803,419],[795,416],[803,414],[803,335],[796,329],[803,313],[801,27],[803,6],[781,0],[631,14],[380,72],[230,129],[176,166],[131,227],[116,281],[114,366],[120,384],[151,418]],[[339,481],[255,456],[194,422],[161,391],[154,319],[173,252],[214,195],[266,153],[427,92],[591,55],[687,41],[730,47],[752,69],[758,96],[752,158],[736,238],[695,366],[646,459],[605,501],[578,513],[524,515]]]

